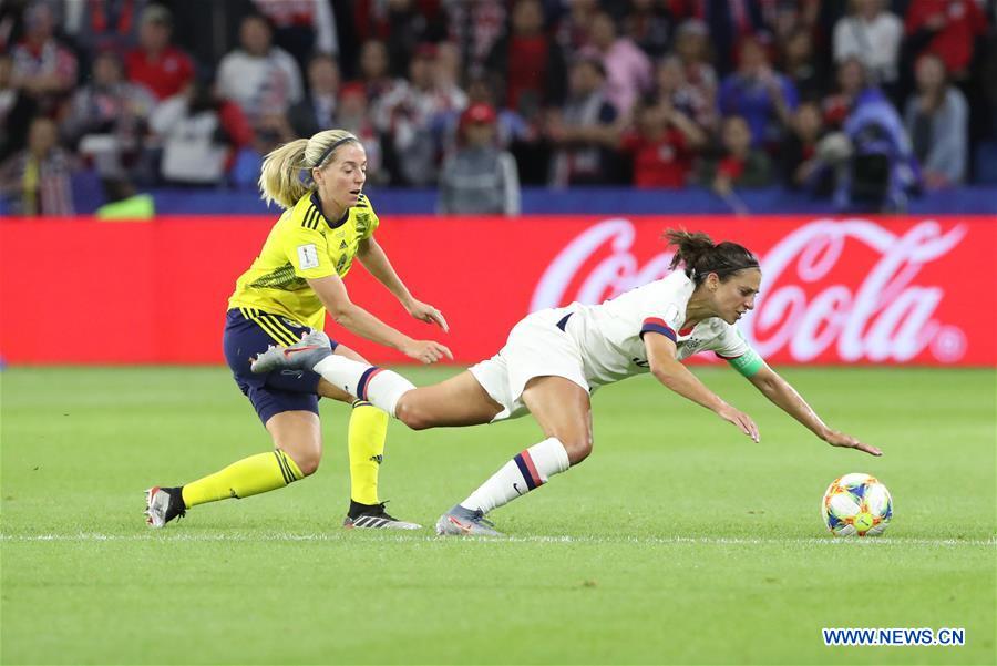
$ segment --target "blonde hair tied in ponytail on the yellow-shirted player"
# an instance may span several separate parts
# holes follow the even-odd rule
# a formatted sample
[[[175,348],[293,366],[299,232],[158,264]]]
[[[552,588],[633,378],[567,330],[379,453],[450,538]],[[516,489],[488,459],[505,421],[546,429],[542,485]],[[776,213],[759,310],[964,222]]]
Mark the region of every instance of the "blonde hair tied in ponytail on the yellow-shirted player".
[[[273,202],[290,208],[315,189],[311,170],[329,164],[338,148],[350,142],[359,143],[359,140],[346,130],[325,130],[311,139],[296,139],[274,148],[264,158],[259,172],[260,198],[267,205]]]

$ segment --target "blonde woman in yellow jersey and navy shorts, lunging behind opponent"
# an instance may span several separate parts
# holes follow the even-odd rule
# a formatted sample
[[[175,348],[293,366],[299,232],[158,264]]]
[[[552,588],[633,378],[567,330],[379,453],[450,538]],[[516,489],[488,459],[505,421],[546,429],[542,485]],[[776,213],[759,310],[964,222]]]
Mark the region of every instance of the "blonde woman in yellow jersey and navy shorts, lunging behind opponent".
[[[249,369],[250,358],[267,347],[292,345],[310,328],[322,329],[327,310],[347,330],[424,363],[453,358],[443,345],[414,340],[350,301],[342,277],[357,258],[412,317],[448,330],[440,310],[409,293],[374,240],[379,221],[361,194],[366,180],[363,146],[343,130],[292,141],[266,156],[259,177],[263,198],[268,204],[276,202],[285,212],[253,266],[236,283],[228,301],[224,347],[236,383],[270,433],[275,450],[185,485],[150,489],[146,522],[151,526],[162,527],[197,504],[276,490],[314,473],[322,457],[321,396],[353,406],[349,428],[351,498],[343,526],[419,527],[395,520],[378,501],[388,414],[354,400],[312,371],[254,375]],[[356,351],[333,346],[335,354],[362,360]]]

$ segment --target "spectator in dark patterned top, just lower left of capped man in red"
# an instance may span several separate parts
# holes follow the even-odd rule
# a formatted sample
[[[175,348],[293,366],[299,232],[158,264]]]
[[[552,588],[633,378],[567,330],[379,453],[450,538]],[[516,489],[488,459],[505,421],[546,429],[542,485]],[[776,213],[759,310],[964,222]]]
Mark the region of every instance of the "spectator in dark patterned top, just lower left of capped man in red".
[[[124,63],[116,52],[97,54],[91,82],[73,96],[62,133],[93,161],[105,187],[131,180],[129,171],[142,152],[147,119],[156,102],[148,89],[125,81]]]

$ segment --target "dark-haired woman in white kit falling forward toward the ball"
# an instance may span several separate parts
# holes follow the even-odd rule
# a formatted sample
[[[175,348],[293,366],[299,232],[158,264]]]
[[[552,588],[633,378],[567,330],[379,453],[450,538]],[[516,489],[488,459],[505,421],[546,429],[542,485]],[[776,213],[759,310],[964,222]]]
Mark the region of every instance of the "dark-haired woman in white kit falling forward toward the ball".
[[[676,247],[667,277],[600,305],[574,303],[534,312],[513,327],[502,350],[441,383],[415,388],[390,370],[332,356],[321,332],[273,348],[253,371],[310,368],[369,400],[414,430],[473,426],[527,411],[546,439],[505,463],[436,522],[440,534],[498,535],[485,515],[538,488],[592,452],[590,395],[602,386],[650,372],[676,393],[713,411],[758,441],[751,417],[731,407],[680,362],[713,351],[780,409],[832,447],[880,455],[878,449],[832,430],[754,352],[734,324],[754,307],[758,259],[736,243],[668,230]]]

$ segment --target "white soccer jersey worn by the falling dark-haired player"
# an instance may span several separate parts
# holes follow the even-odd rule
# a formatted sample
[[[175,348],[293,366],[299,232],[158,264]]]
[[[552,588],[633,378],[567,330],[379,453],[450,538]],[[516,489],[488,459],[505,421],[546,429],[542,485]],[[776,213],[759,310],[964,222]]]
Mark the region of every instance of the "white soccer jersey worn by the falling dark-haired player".
[[[646,332],[670,338],[678,360],[699,351],[713,351],[724,359],[747,354],[750,347],[737,327],[719,317],[681,328],[695,288],[682,270],[676,270],[600,305],[574,303],[563,308],[564,315],[571,312],[563,328],[578,345],[589,386],[595,389],[647,372]]]

